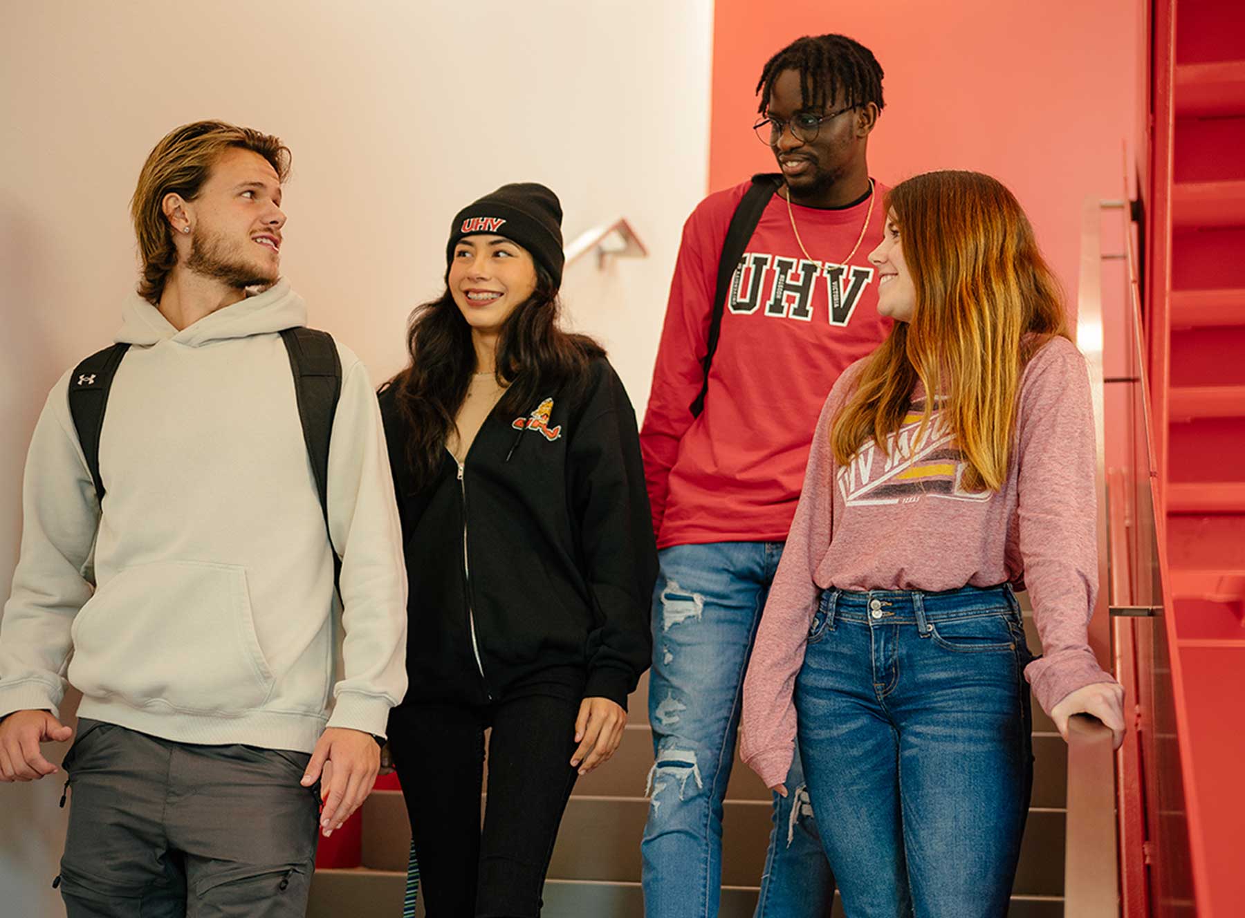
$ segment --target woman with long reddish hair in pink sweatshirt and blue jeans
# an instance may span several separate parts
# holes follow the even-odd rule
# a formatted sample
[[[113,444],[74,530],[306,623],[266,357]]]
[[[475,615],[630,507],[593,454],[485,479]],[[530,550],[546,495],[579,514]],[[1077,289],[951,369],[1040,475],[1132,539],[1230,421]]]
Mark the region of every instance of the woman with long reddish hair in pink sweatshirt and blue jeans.
[[[743,687],[742,755],[786,794],[798,729],[849,918],[1003,916],[1032,784],[1026,677],[1064,736],[1088,712],[1123,738],[1123,690],[1086,642],[1089,379],[1003,185],[928,173],[885,205],[869,260],[896,322],[822,409]]]

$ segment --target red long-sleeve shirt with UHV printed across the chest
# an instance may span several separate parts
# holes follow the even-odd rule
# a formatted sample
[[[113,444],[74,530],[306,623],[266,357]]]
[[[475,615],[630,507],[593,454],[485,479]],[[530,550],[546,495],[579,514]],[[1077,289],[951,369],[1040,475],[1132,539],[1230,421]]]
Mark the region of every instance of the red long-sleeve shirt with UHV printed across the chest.
[[[660,549],[784,540],[825,396],[890,328],[868,260],[881,241],[885,188],[840,210],[792,204],[814,261],[776,194],[735,272],[705,410],[692,419],[722,244],[748,184],[711,194],[684,225],[640,432]]]

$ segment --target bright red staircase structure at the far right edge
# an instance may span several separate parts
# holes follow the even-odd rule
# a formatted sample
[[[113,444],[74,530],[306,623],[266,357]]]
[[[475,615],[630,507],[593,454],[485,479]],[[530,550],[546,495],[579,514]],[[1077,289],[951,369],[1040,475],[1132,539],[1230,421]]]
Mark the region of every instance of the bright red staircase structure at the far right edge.
[[[1154,729],[1179,754],[1195,899],[1152,876],[1149,906],[1226,918],[1245,914],[1245,4],[1148,6],[1143,310],[1175,716]]]

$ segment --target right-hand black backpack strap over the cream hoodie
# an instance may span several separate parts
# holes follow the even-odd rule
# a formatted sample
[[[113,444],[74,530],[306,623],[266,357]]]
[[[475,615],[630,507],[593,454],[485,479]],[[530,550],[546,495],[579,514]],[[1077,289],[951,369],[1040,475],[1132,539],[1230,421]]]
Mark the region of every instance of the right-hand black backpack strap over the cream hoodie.
[[[294,373],[294,392],[299,402],[299,420],[303,422],[303,440],[306,443],[311,475],[320,493],[320,511],[324,529],[332,547],[332,582],[341,595],[341,556],[332,545],[329,529],[329,440],[332,437],[332,419],[341,397],[341,358],[329,332],[315,328],[285,328],[281,341],[290,356]]]

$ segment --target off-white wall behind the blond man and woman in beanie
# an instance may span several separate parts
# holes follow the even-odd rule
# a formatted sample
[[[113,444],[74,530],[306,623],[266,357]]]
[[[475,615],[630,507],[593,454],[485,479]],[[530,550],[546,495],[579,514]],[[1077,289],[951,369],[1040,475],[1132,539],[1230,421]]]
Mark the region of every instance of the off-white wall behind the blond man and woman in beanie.
[[[380,381],[439,292],[449,219],[504,182],[568,240],[627,216],[647,260],[568,269],[576,327],[642,412],[682,220],[706,187],[712,0],[169,4],[5,0],[0,55],[0,595],[49,387],[110,343],[136,279],[127,203],[152,146],[218,117],[294,152],[283,267]],[[62,914],[60,785],[0,786],[0,911]]]

